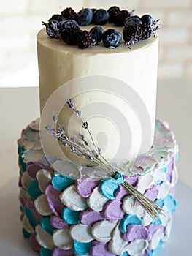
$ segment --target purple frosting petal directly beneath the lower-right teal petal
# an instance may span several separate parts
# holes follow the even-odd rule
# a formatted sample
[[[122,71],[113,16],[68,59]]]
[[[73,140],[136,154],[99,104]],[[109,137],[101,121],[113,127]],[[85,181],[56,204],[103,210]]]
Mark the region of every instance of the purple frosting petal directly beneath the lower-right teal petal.
[[[146,227],[142,225],[128,225],[127,232],[123,234],[123,239],[125,241],[131,242],[135,239],[144,239],[146,240],[148,237],[149,231]]]

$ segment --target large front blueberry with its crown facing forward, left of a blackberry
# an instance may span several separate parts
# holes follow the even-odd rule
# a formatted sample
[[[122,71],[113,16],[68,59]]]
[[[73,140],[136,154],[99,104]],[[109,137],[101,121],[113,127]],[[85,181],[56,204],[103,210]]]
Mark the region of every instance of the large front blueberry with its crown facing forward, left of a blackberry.
[[[114,49],[120,45],[121,34],[116,29],[107,29],[106,31],[104,31],[102,40],[105,47]]]

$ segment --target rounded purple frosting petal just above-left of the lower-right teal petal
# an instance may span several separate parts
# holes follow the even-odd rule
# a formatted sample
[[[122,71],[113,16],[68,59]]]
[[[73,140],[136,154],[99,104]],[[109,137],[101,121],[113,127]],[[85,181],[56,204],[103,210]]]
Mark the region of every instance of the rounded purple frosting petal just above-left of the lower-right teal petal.
[[[102,212],[103,216],[111,221],[123,219],[126,213],[122,210],[121,205],[122,203],[118,200],[110,200],[104,206],[104,210]]]

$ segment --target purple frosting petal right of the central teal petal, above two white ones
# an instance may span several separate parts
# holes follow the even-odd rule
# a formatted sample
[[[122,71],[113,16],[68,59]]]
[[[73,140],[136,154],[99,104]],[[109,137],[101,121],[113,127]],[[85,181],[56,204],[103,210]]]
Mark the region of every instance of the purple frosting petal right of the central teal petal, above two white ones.
[[[93,225],[99,220],[103,220],[104,217],[98,211],[92,211],[91,209],[82,211],[80,214],[80,222],[85,225]]]

